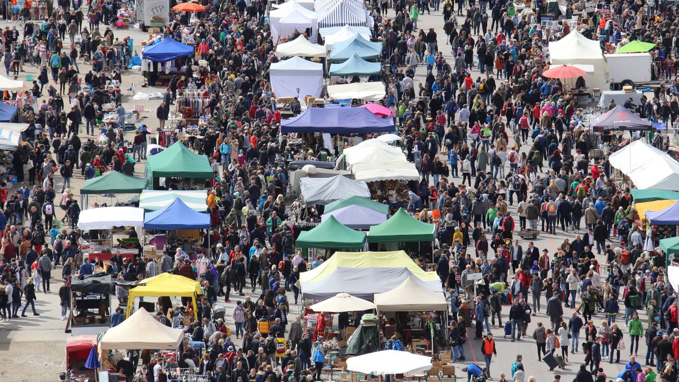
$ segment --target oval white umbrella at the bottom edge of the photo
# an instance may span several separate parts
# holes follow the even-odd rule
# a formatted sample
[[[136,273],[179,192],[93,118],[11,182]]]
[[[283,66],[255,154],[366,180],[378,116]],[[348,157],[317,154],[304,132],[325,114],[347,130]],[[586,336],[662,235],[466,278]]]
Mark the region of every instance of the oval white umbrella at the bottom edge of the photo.
[[[431,357],[409,351],[382,350],[346,360],[346,369],[373,375],[418,374],[431,368]]]

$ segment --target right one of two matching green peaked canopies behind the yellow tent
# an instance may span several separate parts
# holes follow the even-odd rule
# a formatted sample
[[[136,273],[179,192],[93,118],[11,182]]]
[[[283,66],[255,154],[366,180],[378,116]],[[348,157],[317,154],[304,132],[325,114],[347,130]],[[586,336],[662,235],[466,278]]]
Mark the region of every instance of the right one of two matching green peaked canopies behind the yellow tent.
[[[370,227],[368,243],[433,241],[434,229],[434,224],[420,222],[399,208],[386,222]]]

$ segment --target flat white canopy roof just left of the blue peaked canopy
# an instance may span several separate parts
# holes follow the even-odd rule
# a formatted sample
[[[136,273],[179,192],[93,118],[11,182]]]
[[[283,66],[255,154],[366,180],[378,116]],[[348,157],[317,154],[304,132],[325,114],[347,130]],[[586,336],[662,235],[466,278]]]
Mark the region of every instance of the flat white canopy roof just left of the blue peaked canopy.
[[[80,211],[78,227],[81,229],[101,230],[110,229],[113,226],[144,226],[144,209],[137,207],[99,207]]]

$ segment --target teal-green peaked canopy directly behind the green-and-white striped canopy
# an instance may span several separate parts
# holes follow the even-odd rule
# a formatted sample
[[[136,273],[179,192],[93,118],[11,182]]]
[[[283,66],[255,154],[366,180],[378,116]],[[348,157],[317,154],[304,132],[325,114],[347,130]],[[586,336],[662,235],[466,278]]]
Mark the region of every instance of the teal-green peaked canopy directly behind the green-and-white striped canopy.
[[[159,177],[185,177],[207,179],[215,173],[207,156],[196,154],[181,143],[149,156],[146,162],[149,188],[158,187]]]

